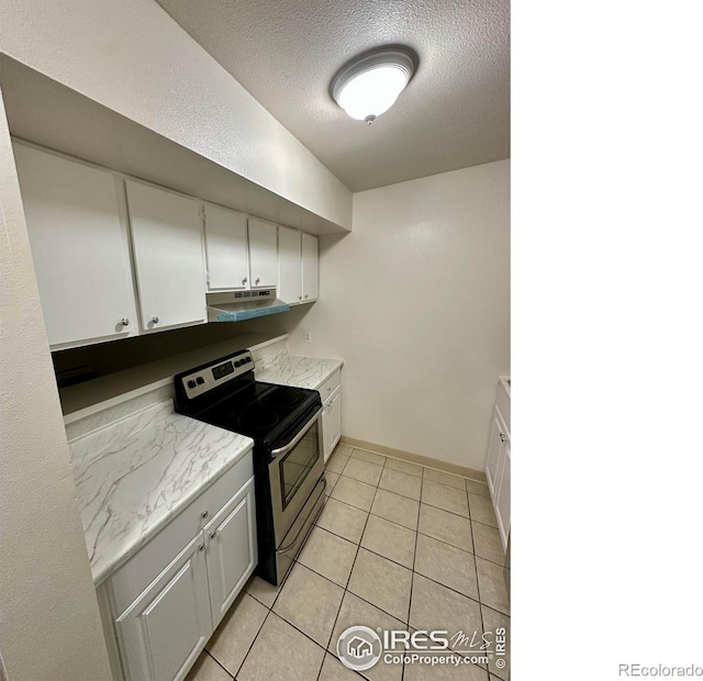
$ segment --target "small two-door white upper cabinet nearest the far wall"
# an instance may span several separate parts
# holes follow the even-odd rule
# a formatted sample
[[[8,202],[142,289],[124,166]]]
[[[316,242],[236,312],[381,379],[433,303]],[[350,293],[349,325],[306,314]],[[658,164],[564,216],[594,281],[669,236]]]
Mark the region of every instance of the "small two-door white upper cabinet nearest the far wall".
[[[317,237],[279,226],[278,298],[291,305],[317,300]]]

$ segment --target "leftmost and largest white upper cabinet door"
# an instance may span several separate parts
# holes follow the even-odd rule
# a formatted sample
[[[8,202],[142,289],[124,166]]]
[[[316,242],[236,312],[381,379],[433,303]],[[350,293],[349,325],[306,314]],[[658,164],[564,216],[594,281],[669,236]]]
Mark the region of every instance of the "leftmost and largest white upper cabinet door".
[[[136,334],[115,176],[22,144],[13,148],[49,345]]]

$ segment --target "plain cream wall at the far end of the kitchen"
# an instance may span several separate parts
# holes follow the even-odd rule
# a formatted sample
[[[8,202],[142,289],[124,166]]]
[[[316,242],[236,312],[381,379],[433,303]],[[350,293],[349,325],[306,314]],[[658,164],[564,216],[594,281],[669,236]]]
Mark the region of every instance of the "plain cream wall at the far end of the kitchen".
[[[482,470],[510,375],[510,160],[354,194],[291,345],[346,361],[347,437]]]

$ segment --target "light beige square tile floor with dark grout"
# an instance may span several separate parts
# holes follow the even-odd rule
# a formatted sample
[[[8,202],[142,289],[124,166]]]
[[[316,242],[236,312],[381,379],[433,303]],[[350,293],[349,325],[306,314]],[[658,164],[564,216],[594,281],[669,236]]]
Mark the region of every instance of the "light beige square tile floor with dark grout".
[[[338,445],[327,503],[278,589],[249,580],[187,681],[361,679],[337,660],[344,629],[505,627],[503,547],[486,484]],[[384,665],[370,681],[507,681],[507,665]]]

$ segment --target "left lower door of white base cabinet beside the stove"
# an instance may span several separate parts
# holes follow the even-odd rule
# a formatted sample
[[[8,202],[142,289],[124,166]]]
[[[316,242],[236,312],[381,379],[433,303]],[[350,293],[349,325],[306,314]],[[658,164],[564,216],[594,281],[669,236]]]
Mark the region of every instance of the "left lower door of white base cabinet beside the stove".
[[[140,595],[116,627],[130,681],[186,677],[213,632],[202,534]]]

